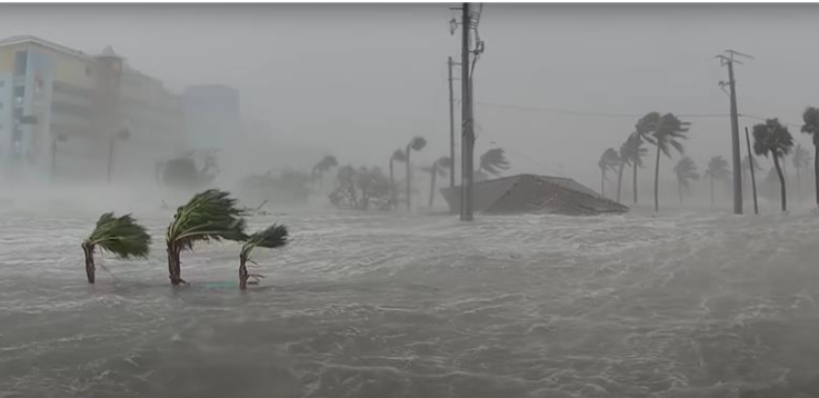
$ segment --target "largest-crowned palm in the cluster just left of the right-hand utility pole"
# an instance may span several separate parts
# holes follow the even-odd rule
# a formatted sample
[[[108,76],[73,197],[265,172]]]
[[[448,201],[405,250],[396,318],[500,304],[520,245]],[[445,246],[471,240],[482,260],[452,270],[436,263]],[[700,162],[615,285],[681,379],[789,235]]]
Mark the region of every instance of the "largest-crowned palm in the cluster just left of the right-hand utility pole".
[[[657,146],[657,160],[655,161],[655,211],[660,211],[660,152],[667,157],[671,157],[671,149],[683,153],[685,148],[679,141],[686,139],[690,122],[681,121],[672,113],[660,116],[658,112],[646,115],[637,122],[638,131],[652,131],[650,136],[646,136],[646,140]]]

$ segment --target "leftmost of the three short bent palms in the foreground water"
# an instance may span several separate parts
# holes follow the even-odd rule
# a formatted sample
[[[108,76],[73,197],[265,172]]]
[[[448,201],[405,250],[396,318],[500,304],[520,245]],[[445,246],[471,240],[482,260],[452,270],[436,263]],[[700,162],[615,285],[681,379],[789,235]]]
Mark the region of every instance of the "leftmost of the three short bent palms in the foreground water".
[[[93,253],[98,246],[101,250],[110,251],[121,258],[144,258],[148,257],[150,245],[151,237],[131,215],[114,217],[113,212],[107,212],[100,216],[93,232],[81,245],[82,252],[86,253],[88,282],[94,282]]]

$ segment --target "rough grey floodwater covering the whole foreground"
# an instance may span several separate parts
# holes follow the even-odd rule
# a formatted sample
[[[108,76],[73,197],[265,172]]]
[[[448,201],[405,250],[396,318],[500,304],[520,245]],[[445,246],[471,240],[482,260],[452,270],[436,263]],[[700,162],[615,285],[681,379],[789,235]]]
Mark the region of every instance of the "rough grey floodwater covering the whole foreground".
[[[819,397],[819,215],[288,213],[237,243],[103,255],[96,216],[4,213],[0,397]]]

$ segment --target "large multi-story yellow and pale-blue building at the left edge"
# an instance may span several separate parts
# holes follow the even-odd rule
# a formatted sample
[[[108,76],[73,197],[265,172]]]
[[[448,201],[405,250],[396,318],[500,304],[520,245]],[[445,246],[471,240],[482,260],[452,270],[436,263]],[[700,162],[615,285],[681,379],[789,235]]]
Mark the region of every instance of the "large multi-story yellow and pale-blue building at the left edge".
[[[31,36],[0,40],[0,160],[14,175],[104,180],[111,159],[117,179],[152,177],[183,139],[181,97],[111,47],[89,54]]]

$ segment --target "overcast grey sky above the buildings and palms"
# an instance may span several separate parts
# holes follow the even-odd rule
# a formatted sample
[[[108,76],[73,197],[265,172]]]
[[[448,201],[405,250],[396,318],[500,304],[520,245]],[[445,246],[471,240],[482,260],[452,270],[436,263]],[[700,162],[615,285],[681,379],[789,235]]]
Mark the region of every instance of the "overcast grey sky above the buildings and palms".
[[[2,4],[0,36],[34,34],[87,52],[111,44],[174,89],[234,86],[246,113],[269,120],[277,140],[383,167],[413,135],[429,141],[419,159],[448,153],[446,59],[459,46],[449,7]],[[737,67],[740,112],[799,123],[807,106],[819,106],[817,21],[817,4],[487,4],[475,78],[477,152],[495,141],[513,171],[555,173],[563,165],[596,187],[599,155],[619,147],[637,117],[490,103],[727,113],[717,86],[727,71],[713,58],[727,48],[757,58]],[[711,156],[728,158],[727,117],[687,120],[688,152],[701,167]],[[798,126],[791,132],[809,143]]]

